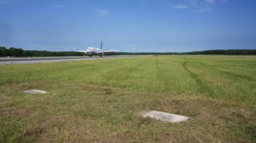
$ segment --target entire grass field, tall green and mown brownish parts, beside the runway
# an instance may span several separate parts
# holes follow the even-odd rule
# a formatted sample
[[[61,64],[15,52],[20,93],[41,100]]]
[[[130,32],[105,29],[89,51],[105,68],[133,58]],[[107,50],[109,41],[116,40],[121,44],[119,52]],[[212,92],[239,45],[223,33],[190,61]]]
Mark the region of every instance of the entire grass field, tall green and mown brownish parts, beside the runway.
[[[256,142],[256,58],[0,66],[0,142]],[[24,90],[44,90],[27,94]],[[141,110],[185,115],[181,123]]]

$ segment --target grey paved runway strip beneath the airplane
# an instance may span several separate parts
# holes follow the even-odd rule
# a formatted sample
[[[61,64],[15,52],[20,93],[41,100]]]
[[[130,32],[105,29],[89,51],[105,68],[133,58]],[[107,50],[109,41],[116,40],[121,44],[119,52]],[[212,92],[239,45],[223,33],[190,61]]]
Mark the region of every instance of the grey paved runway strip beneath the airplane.
[[[5,62],[5,65],[15,65],[15,64],[33,64],[33,63],[42,63],[42,62],[93,60],[93,59],[127,58],[127,57],[139,57],[139,56],[0,58],[0,65],[4,65],[4,62]]]

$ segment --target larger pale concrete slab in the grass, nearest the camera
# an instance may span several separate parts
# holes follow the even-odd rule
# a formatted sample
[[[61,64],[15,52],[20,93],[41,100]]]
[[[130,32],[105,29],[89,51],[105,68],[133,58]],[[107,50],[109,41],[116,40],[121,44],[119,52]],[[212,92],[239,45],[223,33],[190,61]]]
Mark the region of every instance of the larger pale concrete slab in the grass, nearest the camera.
[[[160,121],[168,121],[168,122],[182,122],[186,121],[188,117],[182,115],[176,115],[171,113],[159,112],[159,111],[142,111],[143,117],[156,118]]]

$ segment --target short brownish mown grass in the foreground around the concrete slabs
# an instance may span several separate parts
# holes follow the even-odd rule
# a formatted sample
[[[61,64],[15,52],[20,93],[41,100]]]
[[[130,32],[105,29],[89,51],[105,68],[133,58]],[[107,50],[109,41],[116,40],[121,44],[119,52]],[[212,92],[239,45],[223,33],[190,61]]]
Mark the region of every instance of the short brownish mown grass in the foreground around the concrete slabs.
[[[0,142],[256,140],[256,110],[240,103],[183,96],[179,91],[147,93],[58,81],[6,83],[1,87]],[[22,93],[31,87],[49,93]],[[141,117],[141,110],[185,115],[189,120],[157,121]]]

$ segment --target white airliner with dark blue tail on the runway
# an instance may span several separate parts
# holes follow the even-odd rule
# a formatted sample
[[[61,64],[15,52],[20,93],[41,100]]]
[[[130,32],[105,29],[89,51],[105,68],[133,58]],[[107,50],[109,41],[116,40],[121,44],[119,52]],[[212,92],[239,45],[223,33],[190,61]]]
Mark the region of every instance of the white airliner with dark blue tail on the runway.
[[[104,53],[117,52],[117,51],[116,50],[102,50],[102,42],[101,42],[100,48],[88,47],[86,49],[86,51],[74,51],[74,52],[84,52],[83,55],[87,56],[89,54],[89,57],[91,57],[91,55],[93,55],[93,54],[100,54],[100,57],[102,57],[104,55]]]

